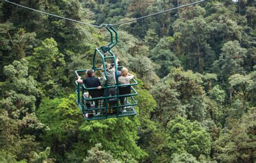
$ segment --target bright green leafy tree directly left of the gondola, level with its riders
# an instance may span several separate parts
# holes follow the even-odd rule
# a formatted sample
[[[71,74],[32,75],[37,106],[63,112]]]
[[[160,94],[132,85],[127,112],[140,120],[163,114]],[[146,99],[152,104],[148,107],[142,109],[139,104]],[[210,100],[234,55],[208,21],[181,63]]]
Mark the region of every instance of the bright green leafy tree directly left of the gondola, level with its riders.
[[[68,79],[64,73],[64,55],[58,51],[53,38],[45,39],[29,58],[30,73],[39,81],[42,93],[54,97],[63,91]]]

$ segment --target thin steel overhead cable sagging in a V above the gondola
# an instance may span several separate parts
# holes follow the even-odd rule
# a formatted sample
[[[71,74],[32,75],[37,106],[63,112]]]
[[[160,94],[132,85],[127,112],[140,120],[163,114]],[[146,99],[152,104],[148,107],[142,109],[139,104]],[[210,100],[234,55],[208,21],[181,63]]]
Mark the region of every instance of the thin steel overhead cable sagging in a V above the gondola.
[[[5,0],[5,2],[8,2],[8,3],[14,4],[14,5],[20,6],[20,7],[22,7],[22,8],[26,8],[26,9],[29,9],[29,10],[33,10],[33,11],[37,11],[37,12],[44,13],[44,14],[46,14],[46,15],[50,15],[50,16],[55,16],[55,17],[58,17],[58,18],[66,19],[66,20],[68,20],[68,21],[72,21],[72,22],[77,22],[77,23],[81,23],[81,24],[93,26],[93,27],[96,27],[96,28],[105,28],[105,27],[117,26],[117,25],[121,25],[121,24],[125,24],[125,23],[130,23],[130,22],[133,22],[133,21],[137,21],[137,20],[139,20],[139,19],[143,19],[143,18],[146,18],[146,17],[159,15],[159,14],[161,14],[161,13],[169,12],[169,11],[172,11],[172,10],[177,10],[177,9],[180,9],[180,8],[185,8],[186,6],[190,6],[190,5],[202,3],[202,2],[205,2],[205,1],[207,1],[207,0],[201,0],[201,1],[199,0],[198,2],[193,2],[193,3],[190,3],[190,4],[185,4],[185,5],[178,6],[178,7],[176,7],[176,8],[172,8],[172,9],[160,11],[160,12],[157,12],[157,13],[152,13],[152,14],[150,14],[150,15],[146,15],[146,16],[143,16],[143,17],[135,18],[135,19],[132,19],[132,20],[130,20],[130,21],[120,22],[120,23],[116,23],[116,24],[112,24],[112,25],[98,26],[98,25],[93,25],[93,24],[89,24],[89,23],[85,23],[85,22],[76,21],[76,20],[74,20],[74,19],[70,19],[70,18],[66,18],[66,17],[54,15],[54,14],[52,14],[52,13],[48,13],[48,12],[44,12],[44,11],[40,11],[40,10],[28,8],[28,7],[26,7],[26,6],[23,6],[23,5],[20,5],[20,4],[17,4],[17,3],[14,3],[14,2],[10,2],[10,1],[8,1],[8,0]]]

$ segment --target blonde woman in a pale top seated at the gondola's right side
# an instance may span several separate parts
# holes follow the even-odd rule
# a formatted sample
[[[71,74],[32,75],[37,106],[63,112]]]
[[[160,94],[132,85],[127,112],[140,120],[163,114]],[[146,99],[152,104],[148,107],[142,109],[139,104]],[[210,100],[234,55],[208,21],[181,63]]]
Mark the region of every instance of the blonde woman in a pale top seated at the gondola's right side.
[[[130,80],[134,78],[133,74],[130,74],[128,72],[128,69],[126,69],[125,67],[123,67],[123,69],[121,70],[121,76],[118,78],[118,82],[121,85],[124,84],[130,84]],[[131,86],[121,86],[119,87],[119,95],[123,95],[123,94],[130,94],[131,93]],[[122,105],[124,105],[124,97],[119,97],[120,99],[120,103]]]

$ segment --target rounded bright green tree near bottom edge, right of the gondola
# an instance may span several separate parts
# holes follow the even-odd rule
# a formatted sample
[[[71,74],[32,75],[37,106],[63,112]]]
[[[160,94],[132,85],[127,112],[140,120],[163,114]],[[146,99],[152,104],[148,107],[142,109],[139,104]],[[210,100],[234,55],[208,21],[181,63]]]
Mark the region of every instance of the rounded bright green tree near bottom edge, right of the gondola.
[[[208,157],[210,154],[210,135],[197,121],[191,123],[177,117],[168,123],[167,128],[169,137],[166,139],[166,147],[169,155],[187,152],[198,159],[200,155]]]

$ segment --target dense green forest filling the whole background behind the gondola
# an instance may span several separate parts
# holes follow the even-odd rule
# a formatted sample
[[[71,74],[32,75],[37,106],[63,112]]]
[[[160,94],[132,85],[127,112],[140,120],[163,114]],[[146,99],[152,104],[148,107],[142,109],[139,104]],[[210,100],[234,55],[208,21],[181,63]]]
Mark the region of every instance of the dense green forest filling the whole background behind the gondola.
[[[195,1],[16,1],[114,24]],[[109,34],[0,2],[0,162],[255,162],[256,8],[207,1],[117,27],[137,116],[85,121],[75,70]]]

